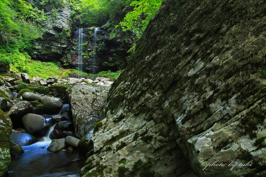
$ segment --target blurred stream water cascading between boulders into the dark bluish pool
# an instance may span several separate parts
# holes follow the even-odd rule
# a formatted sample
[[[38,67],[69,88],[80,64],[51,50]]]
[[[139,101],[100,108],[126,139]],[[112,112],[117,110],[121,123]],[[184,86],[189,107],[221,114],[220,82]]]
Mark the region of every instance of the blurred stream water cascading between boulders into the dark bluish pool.
[[[80,169],[86,161],[85,157],[80,156],[76,150],[69,151],[67,148],[63,148],[57,153],[51,153],[47,150],[52,141],[49,134],[55,127],[55,124],[52,124],[52,116],[43,115],[51,126],[47,135],[40,138],[43,141],[22,146],[24,153],[12,158],[7,177],[80,176]]]

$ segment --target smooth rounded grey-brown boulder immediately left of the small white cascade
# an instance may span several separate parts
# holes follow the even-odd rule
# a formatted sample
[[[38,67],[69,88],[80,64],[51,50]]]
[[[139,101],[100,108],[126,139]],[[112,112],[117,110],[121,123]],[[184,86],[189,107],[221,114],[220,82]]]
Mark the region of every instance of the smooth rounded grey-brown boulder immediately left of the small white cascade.
[[[37,114],[26,114],[22,118],[24,129],[34,136],[44,136],[49,128],[46,119]]]

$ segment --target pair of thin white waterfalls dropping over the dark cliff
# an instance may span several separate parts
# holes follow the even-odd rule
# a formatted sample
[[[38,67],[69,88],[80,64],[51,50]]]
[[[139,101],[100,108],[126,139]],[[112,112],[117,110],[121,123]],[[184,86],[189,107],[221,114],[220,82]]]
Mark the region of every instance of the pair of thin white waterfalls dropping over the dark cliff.
[[[82,53],[83,53],[83,44],[86,42],[86,33],[87,33],[87,28],[78,28],[76,31],[76,40],[78,41],[78,46],[76,49],[77,53],[77,59],[76,63],[78,63],[78,77],[82,77]],[[93,34],[93,51],[92,51],[92,57],[90,59],[90,73],[95,74],[95,59],[96,59],[96,41],[97,41],[97,36],[100,34],[100,28],[94,28],[94,34]]]

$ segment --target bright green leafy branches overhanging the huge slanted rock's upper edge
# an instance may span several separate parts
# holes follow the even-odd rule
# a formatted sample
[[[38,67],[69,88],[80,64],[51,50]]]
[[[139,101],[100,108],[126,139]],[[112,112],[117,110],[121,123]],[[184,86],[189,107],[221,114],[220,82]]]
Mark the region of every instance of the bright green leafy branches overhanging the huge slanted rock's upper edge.
[[[134,10],[128,12],[124,20],[116,28],[120,26],[123,31],[130,30],[140,37],[151,18],[159,10],[161,3],[162,0],[133,1],[130,6],[133,6]]]

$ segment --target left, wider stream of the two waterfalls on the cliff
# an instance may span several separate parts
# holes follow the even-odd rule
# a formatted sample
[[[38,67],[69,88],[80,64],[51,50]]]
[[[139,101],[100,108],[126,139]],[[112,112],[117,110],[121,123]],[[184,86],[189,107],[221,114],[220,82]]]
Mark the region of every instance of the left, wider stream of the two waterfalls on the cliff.
[[[77,63],[78,63],[78,77],[82,77],[82,52],[83,52],[83,43],[86,41],[86,28],[78,28],[76,31],[76,40],[78,41],[78,48],[77,48]]]

